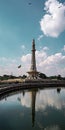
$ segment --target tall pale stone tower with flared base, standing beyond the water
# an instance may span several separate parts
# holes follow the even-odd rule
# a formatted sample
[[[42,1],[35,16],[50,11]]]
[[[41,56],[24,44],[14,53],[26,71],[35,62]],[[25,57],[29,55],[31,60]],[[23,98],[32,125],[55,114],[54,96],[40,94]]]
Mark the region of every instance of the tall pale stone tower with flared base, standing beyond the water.
[[[38,73],[37,69],[36,69],[36,59],[35,59],[35,40],[33,39],[32,41],[32,54],[31,54],[31,68],[30,71],[28,71],[27,73],[29,74],[29,78],[30,79],[37,79],[38,77]]]

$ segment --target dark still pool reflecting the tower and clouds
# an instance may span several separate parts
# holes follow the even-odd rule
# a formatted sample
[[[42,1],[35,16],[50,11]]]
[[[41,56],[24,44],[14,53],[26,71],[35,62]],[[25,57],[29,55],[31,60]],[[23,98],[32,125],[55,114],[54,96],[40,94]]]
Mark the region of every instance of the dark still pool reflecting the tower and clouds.
[[[65,89],[32,89],[0,97],[0,130],[65,130]]]

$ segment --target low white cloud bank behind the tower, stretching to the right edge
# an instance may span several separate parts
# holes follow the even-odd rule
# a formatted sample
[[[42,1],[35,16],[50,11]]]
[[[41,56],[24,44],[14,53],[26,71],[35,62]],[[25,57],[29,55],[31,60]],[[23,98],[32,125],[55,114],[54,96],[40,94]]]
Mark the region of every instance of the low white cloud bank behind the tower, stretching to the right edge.
[[[36,51],[36,65],[37,70],[49,75],[62,75],[65,76],[65,55],[62,53],[55,53],[54,55],[47,55],[47,47],[44,47],[40,51]],[[31,54],[27,54],[21,57],[23,73],[26,73],[30,69]]]

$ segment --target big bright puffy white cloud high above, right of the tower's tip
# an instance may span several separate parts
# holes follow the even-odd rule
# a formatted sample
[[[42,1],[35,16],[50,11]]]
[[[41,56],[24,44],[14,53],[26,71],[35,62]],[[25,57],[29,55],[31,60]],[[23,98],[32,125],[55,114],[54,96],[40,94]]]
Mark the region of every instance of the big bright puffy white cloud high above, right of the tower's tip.
[[[65,4],[58,0],[47,0],[46,14],[40,20],[42,32],[46,36],[58,37],[65,30]]]

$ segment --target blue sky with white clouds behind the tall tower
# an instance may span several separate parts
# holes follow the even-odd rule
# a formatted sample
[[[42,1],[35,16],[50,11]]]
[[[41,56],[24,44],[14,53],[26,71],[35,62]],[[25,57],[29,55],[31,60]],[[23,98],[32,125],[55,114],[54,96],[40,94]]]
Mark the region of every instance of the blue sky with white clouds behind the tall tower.
[[[0,75],[26,73],[33,38],[38,70],[65,76],[64,0],[0,0]]]

